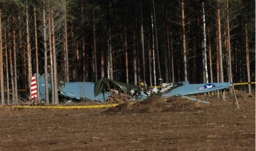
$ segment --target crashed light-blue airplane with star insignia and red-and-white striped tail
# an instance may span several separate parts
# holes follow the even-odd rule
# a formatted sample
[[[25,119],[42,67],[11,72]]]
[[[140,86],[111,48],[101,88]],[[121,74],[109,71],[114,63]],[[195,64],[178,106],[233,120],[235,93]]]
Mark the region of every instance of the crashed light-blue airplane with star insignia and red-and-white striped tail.
[[[36,76],[36,73],[33,77]],[[38,100],[45,98],[45,81],[43,76],[38,75]],[[37,82],[37,81],[36,81]],[[48,84],[48,88],[50,88]],[[106,101],[109,97],[114,94],[126,94],[128,99],[132,100],[143,100],[150,97],[153,94],[160,94],[163,98],[170,96],[181,96],[187,97],[188,95],[210,92],[215,90],[223,90],[232,86],[231,82],[219,82],[219,83],[200,83],[200,84],[189,84],[188,81],[162,83],[160,90],[156,87],[146,88],[141,90],[138,85],[127,84],[117,82],[109,78],[101,78],[96,83],[94,82],[65,82],[58,87],[58,95],[67,99],[85,99],[85,100],[96,100]],[[34,90],[34,89],[33,89]],[[30,93],[32,89],[30,90]],[[34,96],[37,97],[37,96]],[[34,100],[35,98],[33,97]],[[194,100],[194,99],[192,99]]]

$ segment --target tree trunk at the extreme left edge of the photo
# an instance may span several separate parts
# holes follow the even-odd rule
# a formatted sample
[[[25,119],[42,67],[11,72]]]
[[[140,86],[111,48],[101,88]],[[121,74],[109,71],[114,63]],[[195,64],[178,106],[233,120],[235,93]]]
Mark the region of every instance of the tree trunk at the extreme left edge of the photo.
[[[1,9],[0,9],[0,91],[1,91],[0,93],[1,105],[4,105]]]

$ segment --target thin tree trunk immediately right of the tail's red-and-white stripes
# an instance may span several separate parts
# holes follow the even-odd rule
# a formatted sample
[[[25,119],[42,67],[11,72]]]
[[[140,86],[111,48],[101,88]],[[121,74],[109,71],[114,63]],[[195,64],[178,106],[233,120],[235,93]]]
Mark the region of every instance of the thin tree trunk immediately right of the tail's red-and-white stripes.
[[[36,68],[36,90],[37,90],[37,100],[40,100],[39,94],[39,65],[38,65],[38,43],[37,43],[37,25],[36,25],[36,7],[33,6],[34,14],[34,49],[35,49],[35,68]],[[14,72],[15,73],[15,72]]]

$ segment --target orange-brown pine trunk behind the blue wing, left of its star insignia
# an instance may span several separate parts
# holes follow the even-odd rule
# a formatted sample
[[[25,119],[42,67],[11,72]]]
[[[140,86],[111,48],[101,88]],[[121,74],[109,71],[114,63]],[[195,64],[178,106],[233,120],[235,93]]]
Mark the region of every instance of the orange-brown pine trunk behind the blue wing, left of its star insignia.
[[[184,0],[180,1],[181,4],[181,27],[182,27],[182,49],[183,49],[183,67],[184,67],[184,80],[187,80],[186,69],[186,33],[185,33],[185,15],[184,15]]]

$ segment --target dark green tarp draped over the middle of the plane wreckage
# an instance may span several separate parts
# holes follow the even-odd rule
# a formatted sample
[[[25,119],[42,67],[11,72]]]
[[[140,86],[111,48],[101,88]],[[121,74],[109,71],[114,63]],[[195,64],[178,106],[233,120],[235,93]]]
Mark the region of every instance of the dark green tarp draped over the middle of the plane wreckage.
[[[134,89],[139,90],[137,85],[127,84],[122,82],[117,82],[115,80],[103,77],[100,78],[94,85],[94,95],[97,96],[102,91],[107,91],[109,89],[119,89],[124,93],[130,92],[130,90]]]

